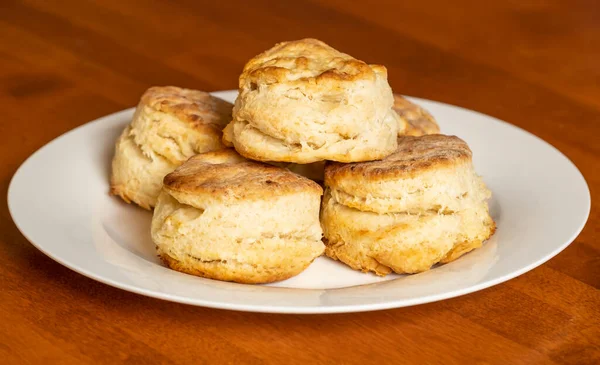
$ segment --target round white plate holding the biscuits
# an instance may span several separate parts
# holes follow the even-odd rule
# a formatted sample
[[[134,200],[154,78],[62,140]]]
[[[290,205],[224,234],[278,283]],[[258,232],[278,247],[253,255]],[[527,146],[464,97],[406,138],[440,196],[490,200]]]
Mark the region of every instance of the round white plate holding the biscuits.
[[[215,95],[233,101],[236,92]],[[563,250],[583,228],[587,184],[548,143],[508,123],[414,99],[446,134],[471,146],[493,192],[498,230],[459,260],[428,272],[379,278],[320,257],[272,285],[243,285],[164,267],[150,240],[151,213],[108,195],[114,143],[133,109],[76,128],[34,153],[13,177],[8,205],[21,232],[59,263],[103,283],[151,297],[256,312],[358,312],[471,293],[523,274]]]

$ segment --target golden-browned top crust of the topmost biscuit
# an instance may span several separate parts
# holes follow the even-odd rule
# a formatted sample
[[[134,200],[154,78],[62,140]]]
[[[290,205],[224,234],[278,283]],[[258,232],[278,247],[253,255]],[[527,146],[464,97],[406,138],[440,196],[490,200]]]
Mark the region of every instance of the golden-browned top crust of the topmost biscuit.
[[[252,58],[240,75],[240,88],[252,82],[274,84],[327,83],[374,80],[375,73],[387,77],[380,65],[367,65],[352,56],[339,52],[317,39],[301,39],[276,44]]]

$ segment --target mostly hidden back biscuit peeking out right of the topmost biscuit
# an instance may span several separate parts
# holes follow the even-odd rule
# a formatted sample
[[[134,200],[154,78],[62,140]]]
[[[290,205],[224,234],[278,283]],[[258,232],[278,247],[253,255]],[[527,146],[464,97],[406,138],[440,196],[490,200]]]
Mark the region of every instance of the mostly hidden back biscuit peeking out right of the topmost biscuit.
[[[427,110],[411,103],[399,94],[394,94],[394,106],[396,113],[406,122],[407,136],[422,136],[425,134],[440,133],[440,127]]]

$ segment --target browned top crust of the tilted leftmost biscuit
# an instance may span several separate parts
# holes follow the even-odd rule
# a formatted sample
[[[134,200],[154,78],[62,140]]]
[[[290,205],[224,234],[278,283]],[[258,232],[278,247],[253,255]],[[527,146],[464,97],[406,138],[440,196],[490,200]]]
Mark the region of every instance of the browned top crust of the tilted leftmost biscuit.
[[[157,111],[176,116],[193,127],[210,127],[221,131],[231,121],[233,105],[207,92],[176,86],[154,86],[140,100]]]

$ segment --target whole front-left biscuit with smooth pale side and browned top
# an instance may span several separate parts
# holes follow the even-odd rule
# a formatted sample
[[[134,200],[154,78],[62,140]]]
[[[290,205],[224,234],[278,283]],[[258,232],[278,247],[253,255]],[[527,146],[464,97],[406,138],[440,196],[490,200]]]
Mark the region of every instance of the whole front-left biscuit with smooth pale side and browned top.
[[[178,271],[239,283],[287,279],[323,253],[322,192],[231,149],[199,154],[165,176],[152,240]]]

